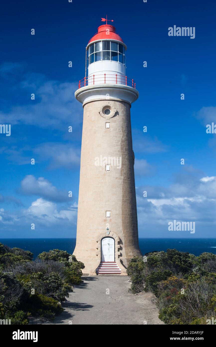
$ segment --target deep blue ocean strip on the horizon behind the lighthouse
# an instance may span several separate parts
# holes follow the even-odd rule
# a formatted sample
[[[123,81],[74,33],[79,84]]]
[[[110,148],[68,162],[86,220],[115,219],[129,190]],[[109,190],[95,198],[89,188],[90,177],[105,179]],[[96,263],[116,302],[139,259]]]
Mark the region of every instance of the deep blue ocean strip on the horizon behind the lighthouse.
[[[5,239],[0,238],[0,242],[13,248],[23,248],[25,251],[31,251],[34,259],[38,254],[47,252],[50,249],[61,249],[68,253],[73,253],[76,245],[75,238],[37,238],[37,239]],[[142,254],[153,251],[166,251],[167,248],[175,248],[178,251],[189,252],[200,255],[203,252],[216,254],[216,238],[140,238],[139,246]]]

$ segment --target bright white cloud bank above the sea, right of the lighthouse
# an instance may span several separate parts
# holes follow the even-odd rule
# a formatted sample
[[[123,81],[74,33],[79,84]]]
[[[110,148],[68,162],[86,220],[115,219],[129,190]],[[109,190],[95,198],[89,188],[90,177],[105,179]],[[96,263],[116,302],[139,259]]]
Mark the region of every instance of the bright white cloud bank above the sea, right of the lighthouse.
[[[169,187],[141,186],[137,192],[140,236],[188,237],[171,234],[168,221],[195,221],[195,237],[213,237],[216,228],[216,177],[183,175],[181,183]],[[147,191],[147,197],[143,192]]]

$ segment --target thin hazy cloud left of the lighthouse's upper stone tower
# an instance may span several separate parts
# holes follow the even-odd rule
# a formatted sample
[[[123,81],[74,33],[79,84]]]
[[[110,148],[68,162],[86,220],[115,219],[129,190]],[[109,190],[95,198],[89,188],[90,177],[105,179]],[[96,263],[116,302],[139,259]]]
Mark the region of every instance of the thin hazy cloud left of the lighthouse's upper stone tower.
[[[15,67],[11,64],[1,66],[0,73],[7,73],[8,76]],[[0,112],[2,124],[36,125],[62,131],[66,131],[71,123],[75,127],[81,125],[83,110],[74,96],[76,83],[47,81],[41,74],[26,74],[23,81],[17,82],[14,88],[26,89],[29,95],[34,93],[35,100],[29,98],[25,105],[13,106],[8,112]]]

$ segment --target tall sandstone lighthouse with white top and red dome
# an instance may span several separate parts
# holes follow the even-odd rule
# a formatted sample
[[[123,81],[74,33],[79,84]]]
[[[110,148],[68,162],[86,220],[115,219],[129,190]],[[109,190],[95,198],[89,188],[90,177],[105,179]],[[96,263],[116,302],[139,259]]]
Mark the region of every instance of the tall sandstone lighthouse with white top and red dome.
[[[141,256],[130,118],[139,93],[126,73],[126,44],[102,21],[86,47],[88,76],[75,92],[83,133],[74,255],[85,273],[127,275],[130,259]]]

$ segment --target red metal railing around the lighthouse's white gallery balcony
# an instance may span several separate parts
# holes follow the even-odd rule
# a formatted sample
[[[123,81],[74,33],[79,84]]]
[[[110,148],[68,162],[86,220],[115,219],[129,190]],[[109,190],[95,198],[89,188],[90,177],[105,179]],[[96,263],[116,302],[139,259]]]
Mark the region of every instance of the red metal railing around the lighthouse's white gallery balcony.
[[[87,85],[94,84],[123,84],[136,89],[136,83],[133,78],[129,78],[127,76],[122,76],[118,74],[102,74],[102,75],[92,75],[89,77],[84,77],[80,79],[78,87],[82,88]]]

